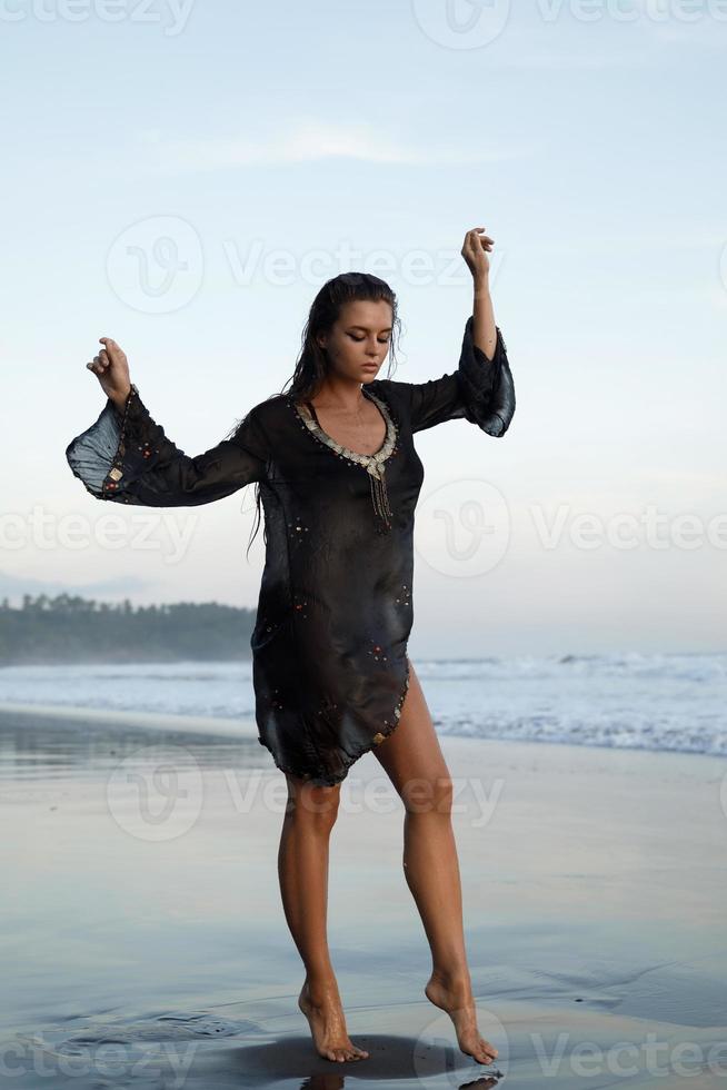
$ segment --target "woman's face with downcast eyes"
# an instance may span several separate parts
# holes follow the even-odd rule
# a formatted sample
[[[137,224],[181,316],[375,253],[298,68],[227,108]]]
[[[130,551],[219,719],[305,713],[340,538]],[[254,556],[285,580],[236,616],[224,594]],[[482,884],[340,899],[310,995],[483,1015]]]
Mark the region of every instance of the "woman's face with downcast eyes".
[[[321,335],[318,343],[328,349],[333,374],[366,384],[377,377],[390,339],[390,305],[384,299],[376,303],[356,299],[343,304],[330,333]]]

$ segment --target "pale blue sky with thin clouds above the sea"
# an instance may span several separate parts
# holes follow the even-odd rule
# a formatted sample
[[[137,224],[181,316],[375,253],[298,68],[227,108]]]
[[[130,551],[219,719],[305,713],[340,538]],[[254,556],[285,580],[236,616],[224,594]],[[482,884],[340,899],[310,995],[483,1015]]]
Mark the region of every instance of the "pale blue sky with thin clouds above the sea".
[[[417,436],[412,657],[724,650],[727,3],[0,0],[0,22],[1,595],[255,607],[252,487],[159,511],[72,476],[98,338],[197,454],[287,383],[341,271],[397,293],[392,377],[454,370],[484,226],[517,409],[500,438]]]

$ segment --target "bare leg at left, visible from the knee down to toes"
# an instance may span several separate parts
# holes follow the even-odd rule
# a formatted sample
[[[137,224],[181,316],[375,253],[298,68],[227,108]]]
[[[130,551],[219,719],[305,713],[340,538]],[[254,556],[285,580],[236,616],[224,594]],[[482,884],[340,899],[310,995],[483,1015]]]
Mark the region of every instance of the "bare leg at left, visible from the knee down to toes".
[[[278,876],[286,920],[306,967],[298,1005],[308,1019],[313,1044],[326,1060],[365,1060],[353,1044],[328,951],[328,855],[338,814],[340,785],[316,787],[290,776],[288,805],[278,852]]]

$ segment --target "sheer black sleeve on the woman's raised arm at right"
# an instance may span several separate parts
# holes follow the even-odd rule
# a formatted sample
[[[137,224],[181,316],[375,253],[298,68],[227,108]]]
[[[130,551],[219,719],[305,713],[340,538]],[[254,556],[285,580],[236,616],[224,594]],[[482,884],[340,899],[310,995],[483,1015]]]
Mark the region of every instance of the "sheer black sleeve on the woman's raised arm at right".
[[[497,327],[495,356],[489,360],[472,340],[472,324],[470,315],[456,371],[426,383],[382,380],[384,386],[391,385],[404,397],[412,432],[461,418],[496,437],[505,435],[510,426],[515,384],[502,334]]]

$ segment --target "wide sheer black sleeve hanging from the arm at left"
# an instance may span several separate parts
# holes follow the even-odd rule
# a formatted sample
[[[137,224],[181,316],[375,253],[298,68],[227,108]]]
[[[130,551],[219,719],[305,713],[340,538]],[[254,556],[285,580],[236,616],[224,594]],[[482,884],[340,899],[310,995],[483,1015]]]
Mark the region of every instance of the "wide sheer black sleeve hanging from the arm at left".
[[[131,384],[123,410],[109,398],[96,423],[70,442],[66,458],[97,499],[192,507],[263,479],[268,447],[251,409],[229,439],[189,457],[151,418]]]

